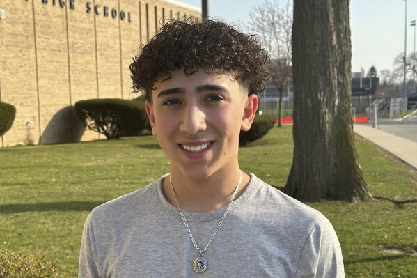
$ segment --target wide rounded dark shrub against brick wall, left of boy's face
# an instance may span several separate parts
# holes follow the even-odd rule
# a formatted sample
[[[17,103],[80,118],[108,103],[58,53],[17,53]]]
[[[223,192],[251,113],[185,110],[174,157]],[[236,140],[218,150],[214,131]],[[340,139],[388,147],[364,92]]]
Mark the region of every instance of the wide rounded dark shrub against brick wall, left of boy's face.
[[[118,98],[81,100],[75,103],[75,113],[90,130],[107,139],[139,135],[145,129],[148,116],[141,103]]]

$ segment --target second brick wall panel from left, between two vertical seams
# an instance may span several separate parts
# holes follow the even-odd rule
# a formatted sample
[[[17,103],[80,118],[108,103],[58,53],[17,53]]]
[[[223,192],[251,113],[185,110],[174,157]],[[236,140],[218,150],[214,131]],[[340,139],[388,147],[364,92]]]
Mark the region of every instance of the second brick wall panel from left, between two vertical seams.
[[[40,109],[40,142],[70,141],[70,82],[65,8],[35,5],[36,50]]]

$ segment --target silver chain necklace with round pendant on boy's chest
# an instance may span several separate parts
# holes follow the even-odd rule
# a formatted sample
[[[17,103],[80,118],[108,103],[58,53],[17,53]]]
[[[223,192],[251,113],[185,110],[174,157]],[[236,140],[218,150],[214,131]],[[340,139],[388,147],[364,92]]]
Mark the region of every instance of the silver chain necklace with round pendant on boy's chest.
[[[171,175],[169,175],[169,183],[171,184],[171,188],[172,188],[173,193],[174,193],[175,203],[177,204],[177,208],[180,211],[182,222],[184,222],[185,228],[187,229],[187,232],[189,234],[189,238],[191,238],[191,241],[193,242],[194,247],[196,247],[198,253],[200,254],[193,262],[193,268],[194,268],[195,272],[203,273],[203,272],[205,272],[205,270],[207,270],[208,262],[203,257],[203,253],[210,246],[210,243],[212,243],[214,236],[216,236],[217,231],[219,231],[219,229],[220,229],[221,223],[223,223],[223,220],[226,218],[226,215],[228,214],[229,209],[232,206],[233,201],[235,200],[235,196],[237,194],[237,191],[239,190],[239,185],[240,185],[241,182],[242,182],[242,171],[240,171],[239,181],[237,182],[235,192],[233,192],[232,199],[230,199],[230,202],[229,202],[225,212],[223,213],[223,216],[221,217],[219,224],[217,225],[216,229],[214,230],[214,233],[213,233],[212,237],[210,238],[209,242],[207,242],[207,245],[205,245],[204,249],[202,250],[202,249],[200,249],[200,247],[198,247],[196,240],[194,240],[194,236],[193,236],[193,233],[191,233],[191,230],[189,229],[187,219],[185,219],[185,215],[184,215],[184,213],[182,213],[182,210],[181,210],[180,206],[178,205],[177,197],[175,195],[175,190],[174,190],[173,184],[171,182]]]

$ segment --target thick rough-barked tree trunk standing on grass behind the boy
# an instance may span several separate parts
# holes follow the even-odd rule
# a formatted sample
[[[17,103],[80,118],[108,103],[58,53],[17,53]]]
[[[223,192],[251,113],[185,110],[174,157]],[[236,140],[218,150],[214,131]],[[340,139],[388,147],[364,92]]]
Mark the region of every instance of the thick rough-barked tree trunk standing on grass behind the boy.
[[[294,0],[294,157],[285,192],[304,201],[372,196],[354,147],[349,0]]]

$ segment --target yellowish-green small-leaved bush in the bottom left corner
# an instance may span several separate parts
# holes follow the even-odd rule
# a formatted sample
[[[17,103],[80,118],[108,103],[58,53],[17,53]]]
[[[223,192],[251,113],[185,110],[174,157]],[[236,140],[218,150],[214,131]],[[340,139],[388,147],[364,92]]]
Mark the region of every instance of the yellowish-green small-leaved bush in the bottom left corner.
[[[14,254],[0,250],[0,278],[55,278],[57,262],[48,262],[45,253]]]

